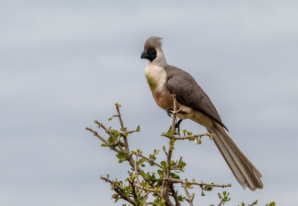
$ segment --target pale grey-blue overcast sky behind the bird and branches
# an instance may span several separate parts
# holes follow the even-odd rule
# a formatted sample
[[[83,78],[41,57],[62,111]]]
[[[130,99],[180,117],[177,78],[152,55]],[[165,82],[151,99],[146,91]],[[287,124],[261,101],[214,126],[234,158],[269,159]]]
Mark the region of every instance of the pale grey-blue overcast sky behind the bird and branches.
[[[96,129],[96,119],[118,129],[116,118],[108,121],[118,102],[125,126],[142,129],[129,137],[131,150],[152,154],[167,144],[160,134],[171,119],[154,102],[148,61],[140,59],[153,35],[164,38],[167,62],[195,78],[263,174],[263,190],[243,190],[212,141],[178,141],[173,157],[187,163],[181,178],[232,183],[206,196],[195,187],[195,205],[218,205],[224,190],[226,205],[294,205],[297,11],[298,1],[1,1],[1,205],[114,204],[100,175],[124,180],[129,166],[85,127]],[[190,120],[181,128],[206,131]]]

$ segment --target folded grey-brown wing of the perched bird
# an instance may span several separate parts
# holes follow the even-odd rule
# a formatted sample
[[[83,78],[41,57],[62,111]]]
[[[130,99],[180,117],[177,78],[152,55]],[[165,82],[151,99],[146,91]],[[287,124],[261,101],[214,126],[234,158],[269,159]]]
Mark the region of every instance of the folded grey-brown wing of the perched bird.
[[[195,79],[189,73],[181,69],[176,68],[174,70],[175,71],[172,70],[169,72],[170,75],[167,86],[170,92],[174,91],[176,93],[177,100],[184,105],[192,107],[208,117],[211,117],[221,126],[226,128],[224,123],[222,123],[215,106]],[[227,128],[226,130],[228,131]]]

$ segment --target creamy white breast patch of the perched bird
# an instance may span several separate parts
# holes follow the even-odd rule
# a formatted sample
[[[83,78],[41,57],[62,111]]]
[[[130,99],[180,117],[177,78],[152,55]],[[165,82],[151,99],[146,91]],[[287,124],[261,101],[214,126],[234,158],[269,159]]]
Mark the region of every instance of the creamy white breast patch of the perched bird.
[[[145,70],[145,76],[151,92],[159,92],[166,83],[167,74],[163,67],[149,63]]]

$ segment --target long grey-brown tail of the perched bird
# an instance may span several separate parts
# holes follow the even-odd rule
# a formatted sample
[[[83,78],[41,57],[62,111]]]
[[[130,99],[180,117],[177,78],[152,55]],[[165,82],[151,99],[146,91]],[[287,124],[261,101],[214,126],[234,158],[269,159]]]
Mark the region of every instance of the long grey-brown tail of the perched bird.
[[[245,157],[240,149],[235,145],[231,138],[226,134],[224,128],[217,123],[208,131],[216,136],[213,138],[215,145],[218,147],[222,156],[229,165],[237,181],[244,189],[249,188],[254,191],[262,189],[263,183],[260,177],[262,174],[258,169]]]

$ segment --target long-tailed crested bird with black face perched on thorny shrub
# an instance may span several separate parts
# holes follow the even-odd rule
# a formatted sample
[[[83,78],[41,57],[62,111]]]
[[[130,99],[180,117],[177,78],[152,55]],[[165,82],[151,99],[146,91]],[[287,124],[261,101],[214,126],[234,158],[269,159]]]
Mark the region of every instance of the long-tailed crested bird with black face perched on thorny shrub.
[[[177,114],[180,119],[177,123],[190,119],[204,126],[209,133],[215,134],[212,140],[239,184],[244,189],[249,188],[252,191],[262,189],[264,187],[260,179],[262,174],[226,133],[228,129],[207,94],[189,73],[167,64],[162,51],[162,38],[157,36],[148,38],[141,59],[148,59],[145,77],[156,104],[169,115],[169,110],[173,110],[174,92],[177,110],[184,107],[182,112]]]

